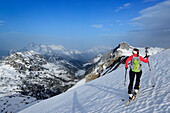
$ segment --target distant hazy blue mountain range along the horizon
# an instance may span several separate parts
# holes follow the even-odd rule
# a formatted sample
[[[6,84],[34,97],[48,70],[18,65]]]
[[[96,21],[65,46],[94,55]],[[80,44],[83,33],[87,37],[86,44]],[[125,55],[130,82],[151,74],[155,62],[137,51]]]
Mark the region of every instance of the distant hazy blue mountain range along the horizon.
[[[97,56],[98,54],[105,54],[111,48],[108,47],[98,47],[86,51],[80,50],[67,50],[62,45],[39,45],[31,43],[26,46],[21,51],[33,50],[35,52],[41,53],[43,55],[58,55],[68,61],[83,61],[87,62]]]

